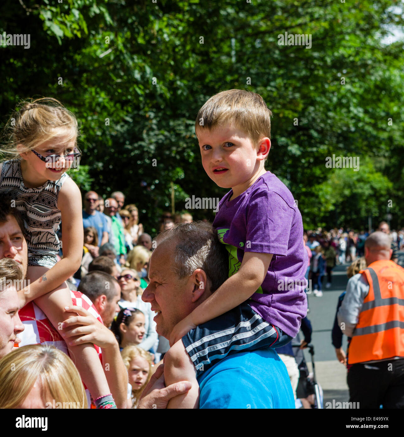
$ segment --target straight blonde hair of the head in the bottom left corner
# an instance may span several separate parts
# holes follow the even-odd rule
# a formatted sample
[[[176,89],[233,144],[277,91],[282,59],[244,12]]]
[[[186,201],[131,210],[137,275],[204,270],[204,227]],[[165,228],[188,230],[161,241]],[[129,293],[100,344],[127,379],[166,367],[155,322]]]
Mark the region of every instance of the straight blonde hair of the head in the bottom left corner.
[[[55,399],[68,408],[87,408],[73,361],[59,349],[42,344],[19,347],[0,360],[0,408],[17,408],[38,379],[44,402]]]

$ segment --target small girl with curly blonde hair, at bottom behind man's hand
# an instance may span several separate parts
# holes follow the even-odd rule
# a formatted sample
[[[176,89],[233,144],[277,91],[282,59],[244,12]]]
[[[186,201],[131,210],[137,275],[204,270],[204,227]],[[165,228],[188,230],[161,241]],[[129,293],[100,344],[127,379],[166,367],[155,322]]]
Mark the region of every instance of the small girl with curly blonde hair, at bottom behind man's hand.
[[[137,408],[140,396],[152,376],[152,355],[137,346],[126,346],[122,352],[122,360],[128,369],[131,385],[131,408]]]

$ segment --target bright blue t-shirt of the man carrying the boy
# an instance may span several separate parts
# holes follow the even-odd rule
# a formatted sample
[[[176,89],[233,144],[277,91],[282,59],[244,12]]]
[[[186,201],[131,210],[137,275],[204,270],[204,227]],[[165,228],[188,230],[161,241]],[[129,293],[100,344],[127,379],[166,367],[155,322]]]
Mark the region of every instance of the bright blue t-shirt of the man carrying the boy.
[[[295,408],[286,366],[271,348],[228,355],[198,383],[199,408]]]

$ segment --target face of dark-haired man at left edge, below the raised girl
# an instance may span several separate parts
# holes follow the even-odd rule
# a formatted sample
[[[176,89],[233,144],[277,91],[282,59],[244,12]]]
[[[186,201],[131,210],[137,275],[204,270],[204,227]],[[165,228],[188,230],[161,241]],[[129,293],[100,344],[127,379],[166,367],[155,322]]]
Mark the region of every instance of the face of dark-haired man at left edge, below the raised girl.
[[[24,277],[27,274],[28,246],[17,220],[7,215],[7,222],[0,223],[0,259],[11,258],[21,264]]]

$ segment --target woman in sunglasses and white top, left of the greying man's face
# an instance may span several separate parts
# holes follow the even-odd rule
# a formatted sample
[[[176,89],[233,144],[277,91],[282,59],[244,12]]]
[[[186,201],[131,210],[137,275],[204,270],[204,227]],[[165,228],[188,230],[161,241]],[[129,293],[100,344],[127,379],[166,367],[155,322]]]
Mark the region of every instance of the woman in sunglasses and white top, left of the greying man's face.
[[[122,297],[118,302],[121,309],[136,308],[145,315],[145,335],[139,347],[148,351],[152,350],[152,353],[155,353],[154,346],[158,338],[153,320],[155,312],[152,311],[152,305],[142,301],[143,288],[140,286],[138,273],[132,269],[124,269],[118,276],[118,282],[121,286]]]

